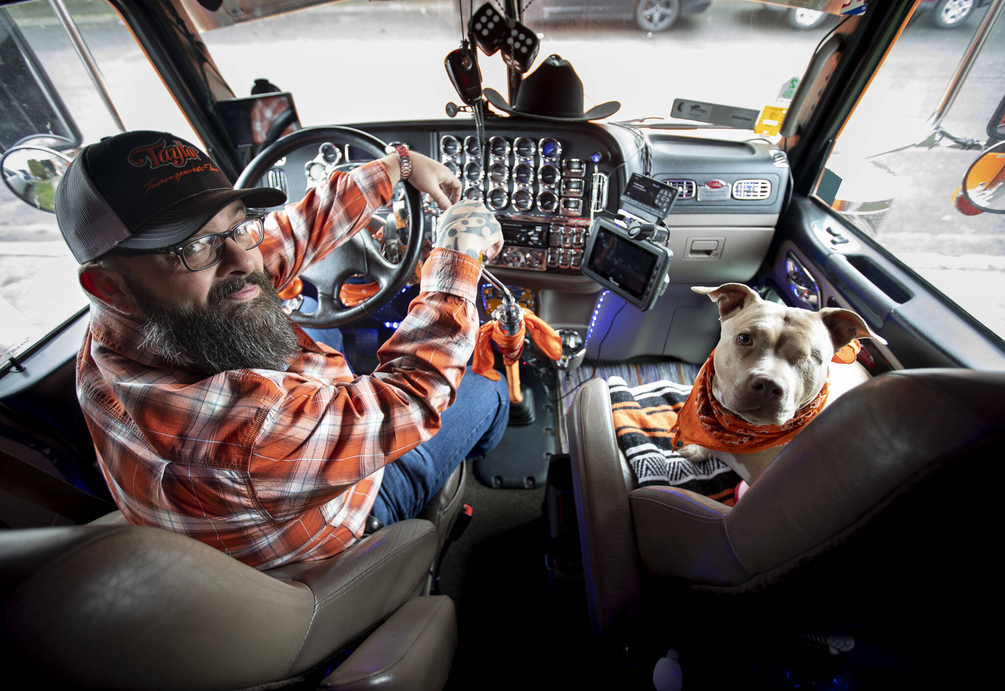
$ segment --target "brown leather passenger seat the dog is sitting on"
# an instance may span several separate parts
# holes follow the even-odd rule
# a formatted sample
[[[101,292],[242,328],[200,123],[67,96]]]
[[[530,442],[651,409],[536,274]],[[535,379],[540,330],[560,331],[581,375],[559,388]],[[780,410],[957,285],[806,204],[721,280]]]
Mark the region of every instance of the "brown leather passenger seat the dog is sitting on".
[[[921,669],[936,651],[952,659],[976,635],[967,578],[997,571],[983,494],[1000,484],[1003,404],[1005,373],[882,375],[828,406],[731,509],[626,487],[607,385],[588,382],[568,432],[594,634],[654,612],[694,635],[853,622],[924,640]]]

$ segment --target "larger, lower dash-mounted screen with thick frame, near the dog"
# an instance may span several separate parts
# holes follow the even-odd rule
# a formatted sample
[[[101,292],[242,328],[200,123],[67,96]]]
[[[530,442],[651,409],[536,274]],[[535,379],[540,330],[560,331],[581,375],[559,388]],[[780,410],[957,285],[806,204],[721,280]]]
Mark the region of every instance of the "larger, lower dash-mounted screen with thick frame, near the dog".
[[[636,240],[614,221],[598,217],[583,253],[583,273],[641,310],[651,309],[666,288],[673,252]]]

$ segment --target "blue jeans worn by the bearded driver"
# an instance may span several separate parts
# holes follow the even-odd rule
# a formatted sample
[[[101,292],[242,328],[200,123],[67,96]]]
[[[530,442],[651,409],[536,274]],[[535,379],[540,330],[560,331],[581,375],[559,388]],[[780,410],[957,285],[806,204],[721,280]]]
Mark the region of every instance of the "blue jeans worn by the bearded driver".
[[[305,298],[304,309],[313,311],[309,299]],[[315,340],[343,352],[338,328],[304,330]],[[385,525],[419,515],[465,458],[495,448],[510,422],[506,379],[493,382],[467,368],[453,405],[443,411],[440,419],[442,425],[432,439],[384,467],[384,480],[371,513]]]

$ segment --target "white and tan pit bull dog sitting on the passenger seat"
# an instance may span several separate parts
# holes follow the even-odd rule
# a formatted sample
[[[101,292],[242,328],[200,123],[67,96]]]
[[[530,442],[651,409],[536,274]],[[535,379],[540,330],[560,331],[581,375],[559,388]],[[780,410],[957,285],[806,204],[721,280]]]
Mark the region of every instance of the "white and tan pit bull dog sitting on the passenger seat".
[[[709,295],[719,305],[722,322],[714,356],[715,377],[708,393],[723,408],[753,425],[778,426],[791,420],[820,393],[828,370],[826,403],[867,381],[869,375],[858,363],[837,364],[831,358],[854,338],[886,342],[849,309],[827,307],[812,312],[786,307],[761,299],[743,283],[691,290]],[[715,455],[748,484],[754,484],[781,449],[713,452],[688,444],[679,452],[691,461]]]

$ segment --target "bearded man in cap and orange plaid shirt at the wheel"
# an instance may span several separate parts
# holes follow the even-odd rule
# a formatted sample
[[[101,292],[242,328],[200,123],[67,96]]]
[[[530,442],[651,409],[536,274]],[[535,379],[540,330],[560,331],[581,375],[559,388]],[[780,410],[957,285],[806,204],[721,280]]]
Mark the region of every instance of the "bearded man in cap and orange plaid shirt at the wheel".
[[[276,293],[406,178],[446,209],[437,248],[380,366],[355,377]],[[168,133],[83,149],[56,190],[56,217],[92,305],[77,398],[126,519],[257,568],[322,559],[370,515],[416,516],[458,463],[495,446],[506,387],[464,374],[478,259],[502,234],[480,203],[447,209],[459,195],[444,166],[399,147],[283,211],[249,215],[245,204],[284,195],[234,190]]]

